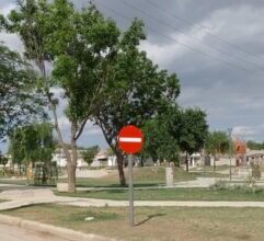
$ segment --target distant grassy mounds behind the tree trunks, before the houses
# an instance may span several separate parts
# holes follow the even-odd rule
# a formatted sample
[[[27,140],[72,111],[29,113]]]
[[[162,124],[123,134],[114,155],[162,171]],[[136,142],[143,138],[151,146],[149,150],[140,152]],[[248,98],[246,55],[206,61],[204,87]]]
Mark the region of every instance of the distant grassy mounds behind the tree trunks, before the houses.
[[[127,170],[125,170],[127,175]],[[223,174],[214,174],[211,172],[199,172],[199,173],[187,173],[181,168],[174,169],[174,181],[191,181],[196,177],[226,177],[228,175]],[[60,180],[67,181],[67,180]],[[134,170],[134,181],[135,186],[153,186],[164,184],[165,182],[165,169],[164,168],[135,168]],[[0,183],[10,183],[25,185],[26,180],[0,180]],[[33,181],[30,181],[30,184],[33,185]],[[100,179],[77,179],[77,186],[79,187],[118,187],[118,173],[114,171],[107,176]]]

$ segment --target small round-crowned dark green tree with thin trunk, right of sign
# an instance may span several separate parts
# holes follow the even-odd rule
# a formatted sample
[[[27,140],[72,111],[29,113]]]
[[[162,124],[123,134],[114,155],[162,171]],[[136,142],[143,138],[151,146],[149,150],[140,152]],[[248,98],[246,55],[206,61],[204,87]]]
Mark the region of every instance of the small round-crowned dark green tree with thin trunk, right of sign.
[[[188,156],[199,151],[207,137],[206,113],[199,108],[182,111],[180,125],[175,123],[175,129],[172,131],[175,137],[179,137],[181,150],[186,152],[186,171],[188,172]]]

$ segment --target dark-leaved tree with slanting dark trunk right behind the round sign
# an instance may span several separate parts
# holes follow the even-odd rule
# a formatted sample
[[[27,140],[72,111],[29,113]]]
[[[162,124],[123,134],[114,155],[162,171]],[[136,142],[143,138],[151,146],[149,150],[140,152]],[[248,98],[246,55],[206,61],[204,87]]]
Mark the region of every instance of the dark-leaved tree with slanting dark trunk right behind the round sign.
[[[104,102],[93,116],[117,157],[122,185],[126,179],[124,153],[117,147],[119,129],[128,124],[142,127],[180,94],[176,76],[159,70],[146,53],[138,49],[140,41],[146,38],[142,26],[135,20],[119,38],[117,56],[108,69]]]

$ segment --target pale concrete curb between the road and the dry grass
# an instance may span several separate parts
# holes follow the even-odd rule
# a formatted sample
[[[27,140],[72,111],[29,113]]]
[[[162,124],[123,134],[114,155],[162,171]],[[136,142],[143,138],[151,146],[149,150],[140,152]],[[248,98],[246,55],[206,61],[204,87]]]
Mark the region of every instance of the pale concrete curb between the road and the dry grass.
[[[116,241],[115,239],[108,239],[95,234],[85,234],[83,232],[66,228],[44,225],[36,221],[28,221],[22,218],[10,217],[5,215],[0,215],[0,223],[16,226],[26,230],[55,236],[57,238],[66,239],[69,241]]]

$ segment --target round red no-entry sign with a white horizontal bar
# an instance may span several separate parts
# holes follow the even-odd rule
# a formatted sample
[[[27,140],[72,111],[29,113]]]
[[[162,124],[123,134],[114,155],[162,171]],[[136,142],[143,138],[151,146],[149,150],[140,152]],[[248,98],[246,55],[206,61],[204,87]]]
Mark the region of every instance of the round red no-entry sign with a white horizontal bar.
[[[137,153],[144,146],[144,135],[133,125],[125,126],[118,134],[118,148],[128,154]]]

